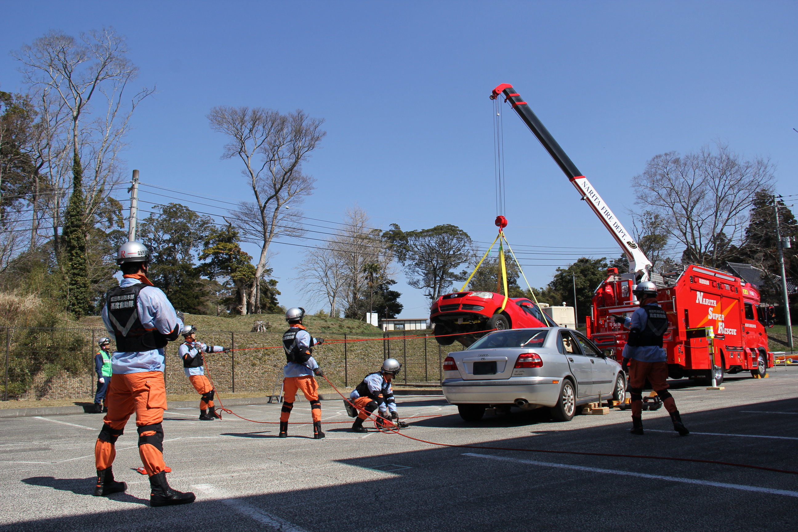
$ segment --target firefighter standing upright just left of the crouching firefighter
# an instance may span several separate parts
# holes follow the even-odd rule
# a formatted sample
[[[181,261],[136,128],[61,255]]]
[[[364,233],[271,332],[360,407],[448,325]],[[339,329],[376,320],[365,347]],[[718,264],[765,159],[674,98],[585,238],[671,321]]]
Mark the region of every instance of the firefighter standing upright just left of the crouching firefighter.
[[[314,345],[322,345],[321,338],[310,336],[302,325],[305,309],[294,307],[286,312],[290,328],[282,335],[282,347],[286,351],[287,364],[282,368],[282,409],[280,413],[280,438],[288,435],[288,418],[294,408],[296,392],[302,390],[310,401],[310,416],[313,418],[313,437],[322,439],[322,403],[318,400],[318,383],[315,376],[324,376],[322,368],[313,358]]]

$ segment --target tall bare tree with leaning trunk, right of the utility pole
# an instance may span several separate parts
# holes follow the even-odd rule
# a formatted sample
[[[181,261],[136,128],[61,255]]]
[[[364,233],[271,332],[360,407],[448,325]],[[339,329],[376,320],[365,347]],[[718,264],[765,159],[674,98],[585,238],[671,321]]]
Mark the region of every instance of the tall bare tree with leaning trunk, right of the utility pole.
[[[247,304],[247,313],[259,313],[260,279],[272,240],[302,234],[301,213],[288,207],[301,204],[314,190],[315,179],[302,172],[302,162],[326,135],[324,120],[301,109],[281,115],[273,109],[227,105],[212,108],[207,119],[214,131],[228,136],[222,159],[239,157],[255,199],[232,211],[231,222],[261,248]]]

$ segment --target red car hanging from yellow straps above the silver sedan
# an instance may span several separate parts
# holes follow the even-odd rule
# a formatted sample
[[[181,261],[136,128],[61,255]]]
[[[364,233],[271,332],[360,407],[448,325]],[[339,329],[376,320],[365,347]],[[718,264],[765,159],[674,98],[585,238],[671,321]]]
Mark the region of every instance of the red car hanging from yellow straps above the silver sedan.
[[[440,345],[459,341],[468,347],[492,329],[557,326],[527,298],[508,298],[501,310],[503,304],[504,296],[495,292],[456,292],[441,296],[429,313],[435,339]]]

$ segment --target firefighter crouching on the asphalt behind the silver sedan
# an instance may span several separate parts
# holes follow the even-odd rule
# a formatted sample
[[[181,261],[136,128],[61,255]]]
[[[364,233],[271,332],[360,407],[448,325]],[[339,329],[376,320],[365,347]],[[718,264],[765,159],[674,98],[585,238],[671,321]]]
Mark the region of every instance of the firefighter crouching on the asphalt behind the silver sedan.
[[[352,424],[352,432],[366,432],[363,421],[377,408],[379,408],[380,414],[377,418],[378,428],[407,427],[406,423],[399,420],[397,402],[393,399],[393,388],[391,388],[391,380],[397,376],[400,369],[401,363],[395,358],[389,358],[382,363],[380,371],[366,375],[365,379],[352,390],[350,393],[351,404],[344,401],[350,416],[358,416],[358,419],[354,420],[354,424]],[[352,404],[357,408],[354,408]],[[355,414],[356,411],[357,414]]]

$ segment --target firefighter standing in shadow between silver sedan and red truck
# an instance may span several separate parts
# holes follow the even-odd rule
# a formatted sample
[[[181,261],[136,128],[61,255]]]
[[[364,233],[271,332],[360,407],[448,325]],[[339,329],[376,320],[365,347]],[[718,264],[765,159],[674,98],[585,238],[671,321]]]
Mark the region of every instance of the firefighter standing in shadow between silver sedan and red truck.
[[[623,348],[623,369],[629,368],[629,392],[632,405],[631,434],[642,435],[643,387],[646,379],[662,399],[662,404],[674,422],[674,431],[680,435],[690,432],[681,423],[674,397],[668,392],[668,357],[662,349],[662,337],[668,330],[668,316],[657,304],[657,286],[650,281],[641,282],[632,293],[640,300],[640,308],[632,317],[614,316],[616,323],[630,329],[629,339]],[[630,361],[631,359],[631,361]]]

